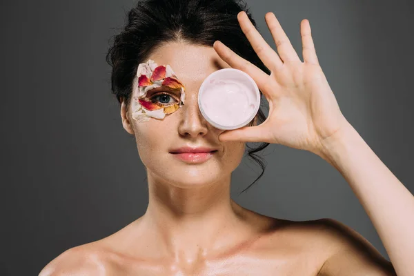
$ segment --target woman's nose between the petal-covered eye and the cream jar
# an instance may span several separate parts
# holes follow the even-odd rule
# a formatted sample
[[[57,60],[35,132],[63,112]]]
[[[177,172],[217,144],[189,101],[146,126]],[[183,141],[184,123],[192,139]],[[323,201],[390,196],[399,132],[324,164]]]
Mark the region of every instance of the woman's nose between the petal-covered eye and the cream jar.
[[[208,132],[208,121],[204,119],[198,106],[198,95],[188,93],[184,106],[181,106],[181,121],[178,132],[183,137],[203,137]]]

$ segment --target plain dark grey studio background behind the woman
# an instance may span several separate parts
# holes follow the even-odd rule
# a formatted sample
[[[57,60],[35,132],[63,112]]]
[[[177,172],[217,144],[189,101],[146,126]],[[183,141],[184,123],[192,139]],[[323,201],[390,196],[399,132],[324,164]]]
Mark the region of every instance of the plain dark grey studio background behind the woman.
[[[121,126],[104,59],[133,3],[1,2],[0,275],[37,275],[64,250],[106,237],[146,210],[144,168]],[[413,2],[248,3],[269,42],[264,14],[275,12],[300,57],[299,22],[310,20],[342,112],[413,193]],[[286,219],[338,219],[387,257],[335,168],[280,145],[264,155],[265,175],[247,193],[239,195],[259,168],[244,161],[235,171],[239,204]]]

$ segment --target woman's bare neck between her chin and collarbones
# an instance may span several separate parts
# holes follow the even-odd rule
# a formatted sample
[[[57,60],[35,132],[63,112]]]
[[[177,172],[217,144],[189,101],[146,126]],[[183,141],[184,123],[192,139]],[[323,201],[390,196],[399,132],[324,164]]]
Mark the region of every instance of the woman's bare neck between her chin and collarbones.
[[[144,224],[157,241],[154,247],[177,262],[190,262],[245,238],[246,211],[230,199],[230,179],[228,175],[215,183],[183,188],[148,172]]]

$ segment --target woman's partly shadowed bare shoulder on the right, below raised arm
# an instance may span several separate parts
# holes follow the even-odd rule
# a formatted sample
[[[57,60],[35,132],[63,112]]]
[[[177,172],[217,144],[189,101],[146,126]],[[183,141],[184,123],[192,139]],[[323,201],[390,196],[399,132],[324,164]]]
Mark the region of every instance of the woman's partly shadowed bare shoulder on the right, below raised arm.
[[[275,221],[276,227],[260,246],[291,256],[286,263],[293,266],[292,271],[302,269],[319,276],[396,275],[391,262],[367,239],[335,219]]]

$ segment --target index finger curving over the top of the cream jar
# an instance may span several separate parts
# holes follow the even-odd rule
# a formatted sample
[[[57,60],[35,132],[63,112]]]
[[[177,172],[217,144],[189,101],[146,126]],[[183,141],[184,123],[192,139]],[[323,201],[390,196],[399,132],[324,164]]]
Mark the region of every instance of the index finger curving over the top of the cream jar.
[[[226,63],[228,63],[229,66],[235,69],[242,70],[247,75],[252,77],[255,83],[257,83],[259,89],[262,90],[266,97],[268,97],[268,95],[266,95],[266,92],[264,91],[265,89],[262,88],[264,88],[264,86],[266,85],[269,75],[267,75],[265,72],[263,72],[260,68],[255,66],[250,61],[247,61],[246,59],[237,55],[235,52],[233,52],[233,50],[221,43],[221,41],[215,41],[215,43],[213,44],[213,48],[217,52],[217,55],[219,55],[221,59],[226,61]]]

